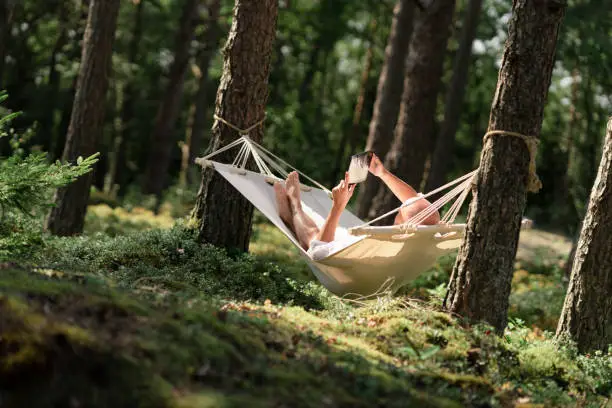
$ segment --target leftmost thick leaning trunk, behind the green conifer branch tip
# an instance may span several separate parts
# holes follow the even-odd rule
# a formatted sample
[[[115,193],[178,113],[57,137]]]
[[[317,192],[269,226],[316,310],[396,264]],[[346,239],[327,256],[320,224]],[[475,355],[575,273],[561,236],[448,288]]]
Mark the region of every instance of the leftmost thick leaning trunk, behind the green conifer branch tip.
[[[77,91],[62,156],[65,161],[95,153],[102,137],[119,5],[120,0],[90,1]],[[89,173],[55,193],[56,206],[46,220],[51,233],[73,235],[83,231],[91,180]]]

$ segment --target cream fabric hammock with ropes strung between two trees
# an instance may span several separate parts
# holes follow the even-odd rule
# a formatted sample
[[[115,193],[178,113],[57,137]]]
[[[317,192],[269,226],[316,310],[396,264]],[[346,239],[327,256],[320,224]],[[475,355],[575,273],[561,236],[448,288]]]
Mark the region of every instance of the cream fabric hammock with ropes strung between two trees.
[[[211,160],[230,149],[238,151],[231,164]],[[250,157],[259,172],[246,169]],[[340,217],[336,240],[346,242],[346,246],[324,259],[314,261],[278,215],[272,184],[285,178],[291,170],[300,174],[302,182],[307,180],[312,183],[313,186],[301,186],[302,206],[319,226],[323,224],[332,206],[330,190],[255,143],[247,135],[196,159],[196,163],[214,168],[232,184],[293,242],[321,284],[340,296],[368,296],[379,292],[381,288],[395,292],[430,268],[438,257],[457,249],[463,238],[465,224],[453,222],[476,174],[473,171],[428,194],[419,195],[368,223],[345,210]],[[370,225],[395,214],[404,206],[444,190],[449,191],[403,225]],[[438,225],[419,225],[453,199],[454,203]]]

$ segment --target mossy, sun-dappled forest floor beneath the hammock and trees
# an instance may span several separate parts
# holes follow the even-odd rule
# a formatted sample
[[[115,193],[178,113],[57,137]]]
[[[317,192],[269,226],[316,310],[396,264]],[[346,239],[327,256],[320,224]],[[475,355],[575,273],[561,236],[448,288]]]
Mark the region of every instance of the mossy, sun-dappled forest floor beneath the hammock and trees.
[[[92,206],[84,236],[0,264],[0,406],[612,407],[612,354],[552,337],[565,237],[522,232],[500,337],[441,311],[452,256],[350,302],[261,217],[250,255],[173,224]]]

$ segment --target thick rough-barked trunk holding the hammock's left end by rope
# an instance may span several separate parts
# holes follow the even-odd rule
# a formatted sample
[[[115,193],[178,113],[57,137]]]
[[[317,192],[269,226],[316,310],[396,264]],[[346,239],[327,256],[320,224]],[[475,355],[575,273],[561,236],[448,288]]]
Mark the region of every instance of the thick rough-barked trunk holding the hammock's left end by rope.
[[[277,12],[276,0],[236,0],[235,3],[215,113],[243,129],[259,122],[265,115]],[[217,150],[239,136],[236,131],[215,121],[209,149]],[[263,126],[254,129],[250,137],[260,142]],[[220,159],[230,157],[231,152]],[[192,213],[200,241],[246,251],[252,216],[251,204],[225,179],[213,169],[202,171],[202,182]]]

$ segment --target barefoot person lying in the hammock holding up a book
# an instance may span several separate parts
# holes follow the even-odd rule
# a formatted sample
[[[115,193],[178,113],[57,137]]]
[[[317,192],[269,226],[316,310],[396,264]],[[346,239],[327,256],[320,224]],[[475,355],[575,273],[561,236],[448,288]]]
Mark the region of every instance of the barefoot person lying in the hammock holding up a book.
[[[380,178],[402,203],[418,195],[412,187],[385,169],[376,155],[372,157],[369,170],[370,173]],[[302,248],[307,250],[314,260],[326,258],[331,253],[346,246],[345,242],[335,240],[335,234],[340,215],[346,208],[354,190],[355,185],[348,183],[348,173],[346,173],[344,180],[341,180],[332,190],[332,208],[325,222],[319,228],[302,209],[300,180],[297,172],[294,171],[287,176],[284,186],[278,182],[274,184],[281,219],[293,231]],[[394,225],[404,223],[429,205],[430,203],[423,199],[400,209],[395,217]],[[422,224],[432,225],[439,221],[440,214],[436,211]]]

